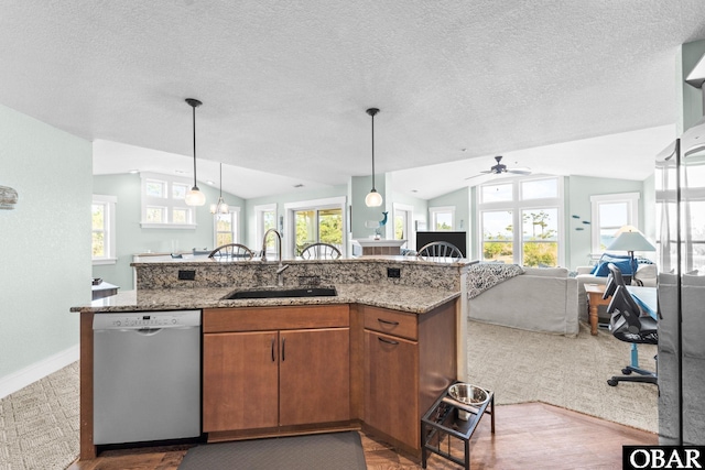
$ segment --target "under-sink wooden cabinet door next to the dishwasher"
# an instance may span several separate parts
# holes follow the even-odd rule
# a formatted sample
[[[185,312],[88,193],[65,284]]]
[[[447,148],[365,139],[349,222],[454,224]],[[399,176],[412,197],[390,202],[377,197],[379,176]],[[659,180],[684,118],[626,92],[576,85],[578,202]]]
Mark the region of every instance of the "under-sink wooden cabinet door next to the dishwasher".
[[[204,335],[203,430],[275,427],[276,331]]]

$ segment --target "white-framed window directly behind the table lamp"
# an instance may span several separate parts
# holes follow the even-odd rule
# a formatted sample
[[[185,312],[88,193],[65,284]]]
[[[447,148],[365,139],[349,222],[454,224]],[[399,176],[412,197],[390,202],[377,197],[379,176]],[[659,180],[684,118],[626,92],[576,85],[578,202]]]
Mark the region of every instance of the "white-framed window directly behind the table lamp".
[[[596,195],[590,204],[593,255],[604,253],[622,226],[639,227],[639,193]]]

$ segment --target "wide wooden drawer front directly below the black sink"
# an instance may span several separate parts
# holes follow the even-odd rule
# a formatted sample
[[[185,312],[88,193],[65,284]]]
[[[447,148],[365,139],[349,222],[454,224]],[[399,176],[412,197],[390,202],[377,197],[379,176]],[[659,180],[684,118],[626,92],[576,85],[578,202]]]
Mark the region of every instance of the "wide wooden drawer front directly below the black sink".
[[[207,308],[203,332],[261,331],[350,326],[348,305]]]

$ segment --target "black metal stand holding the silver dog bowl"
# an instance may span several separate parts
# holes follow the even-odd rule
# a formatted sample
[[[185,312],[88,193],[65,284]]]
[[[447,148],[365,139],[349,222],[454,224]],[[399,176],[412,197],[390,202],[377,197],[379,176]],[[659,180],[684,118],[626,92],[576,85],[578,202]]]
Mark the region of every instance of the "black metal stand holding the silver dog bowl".
[[[495,393],[488,390],[488,400],[476,407],[453,400],[448,395],[448,389],[421,418],[421,467],[426,468],[429,452],[433,452],[469,470],[470,437],[485,414],[490,415],[491,430],[495,434]],[[467,419],[462,418],[463,415],[467,415]],[[453,455],[454,441],[463,442],[463,458]]]

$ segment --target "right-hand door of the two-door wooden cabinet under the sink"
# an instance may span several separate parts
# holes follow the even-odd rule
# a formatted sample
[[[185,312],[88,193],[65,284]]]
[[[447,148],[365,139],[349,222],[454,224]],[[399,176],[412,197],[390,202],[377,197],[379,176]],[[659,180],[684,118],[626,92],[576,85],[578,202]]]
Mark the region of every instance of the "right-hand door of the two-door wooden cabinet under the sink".
[[[350,419],[350,331],[280,332],[280,425]]]

